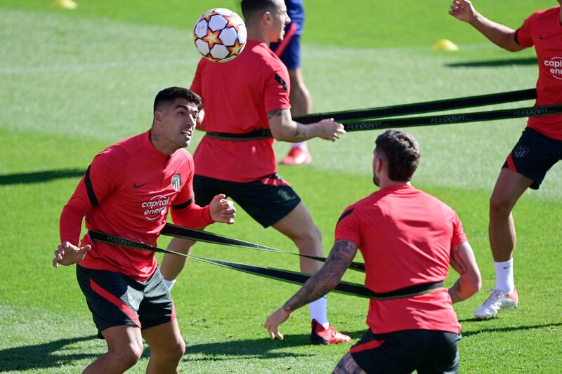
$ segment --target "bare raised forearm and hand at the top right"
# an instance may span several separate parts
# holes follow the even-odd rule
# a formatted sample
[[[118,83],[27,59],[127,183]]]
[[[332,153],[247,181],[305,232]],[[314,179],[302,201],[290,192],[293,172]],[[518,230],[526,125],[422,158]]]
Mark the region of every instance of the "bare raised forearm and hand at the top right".
[[[468,22],[493,44],[507,51],[516,52],[525,48],[516,43],[514,29],[488,20],[474,9],[469,0],[453,0],[449,14]]]

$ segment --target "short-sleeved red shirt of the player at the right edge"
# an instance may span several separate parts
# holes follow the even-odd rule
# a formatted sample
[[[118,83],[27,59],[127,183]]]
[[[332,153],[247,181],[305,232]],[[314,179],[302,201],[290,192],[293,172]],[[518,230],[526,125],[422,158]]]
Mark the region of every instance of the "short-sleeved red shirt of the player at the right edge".
[[[535,46],[539,62],[535,105],[562,104],[562,25],[560,6],[538,11],[516,31],[520,46]],[[562,115],[530,117],[527,126],[549,138],[562,140]]]

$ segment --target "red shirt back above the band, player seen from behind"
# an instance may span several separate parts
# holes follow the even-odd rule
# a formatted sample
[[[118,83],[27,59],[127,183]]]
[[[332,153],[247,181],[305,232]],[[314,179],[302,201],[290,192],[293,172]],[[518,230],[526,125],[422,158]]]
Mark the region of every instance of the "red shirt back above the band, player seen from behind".
[[[353,214],[360,215],[365,225],[362,254],[372,270],[365,279],[367,286],[389,292],[447,277],[451,243],[466,236],[445,203],[400,186],[386,187],[355,206]]]

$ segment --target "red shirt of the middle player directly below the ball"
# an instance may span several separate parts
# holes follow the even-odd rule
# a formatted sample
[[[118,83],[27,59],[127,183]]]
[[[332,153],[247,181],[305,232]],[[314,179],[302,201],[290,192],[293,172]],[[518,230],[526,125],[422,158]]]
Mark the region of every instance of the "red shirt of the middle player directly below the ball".
[[[213,133],[249,133],[269,128],[268,112],[290,108],[289,73],[265,43],[249,40],[229,62],[202,58],[191,90],[201,95],[200,128]],[[224,140],[205,136],[193,155],[195,173],[231,182],[251,182],[275,173],[273,138]]]

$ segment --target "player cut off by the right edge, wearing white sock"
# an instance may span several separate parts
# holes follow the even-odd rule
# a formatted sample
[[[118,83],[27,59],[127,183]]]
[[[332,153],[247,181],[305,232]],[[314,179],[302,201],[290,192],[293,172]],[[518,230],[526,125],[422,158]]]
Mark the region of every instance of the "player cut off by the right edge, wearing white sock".
[[[558,0],[562,4],[562,0]],[[539,62],[535,105],[562,104],[562,8],[537,11],[514,30],[488,20],[468,0],[452,2],[449,13],[468,22],[492,43],[516,52],[535,47]],[[479,319],[490,319],[500,309],[517,307],[513,253],[516,244],[514,218],[517,200],[528,187],[538,189],[547,171],[562,159],[562,116],[531,117],[527,128],[507,156],[490,197],[490,248],[496,285],[492,295],[476,309]]]

